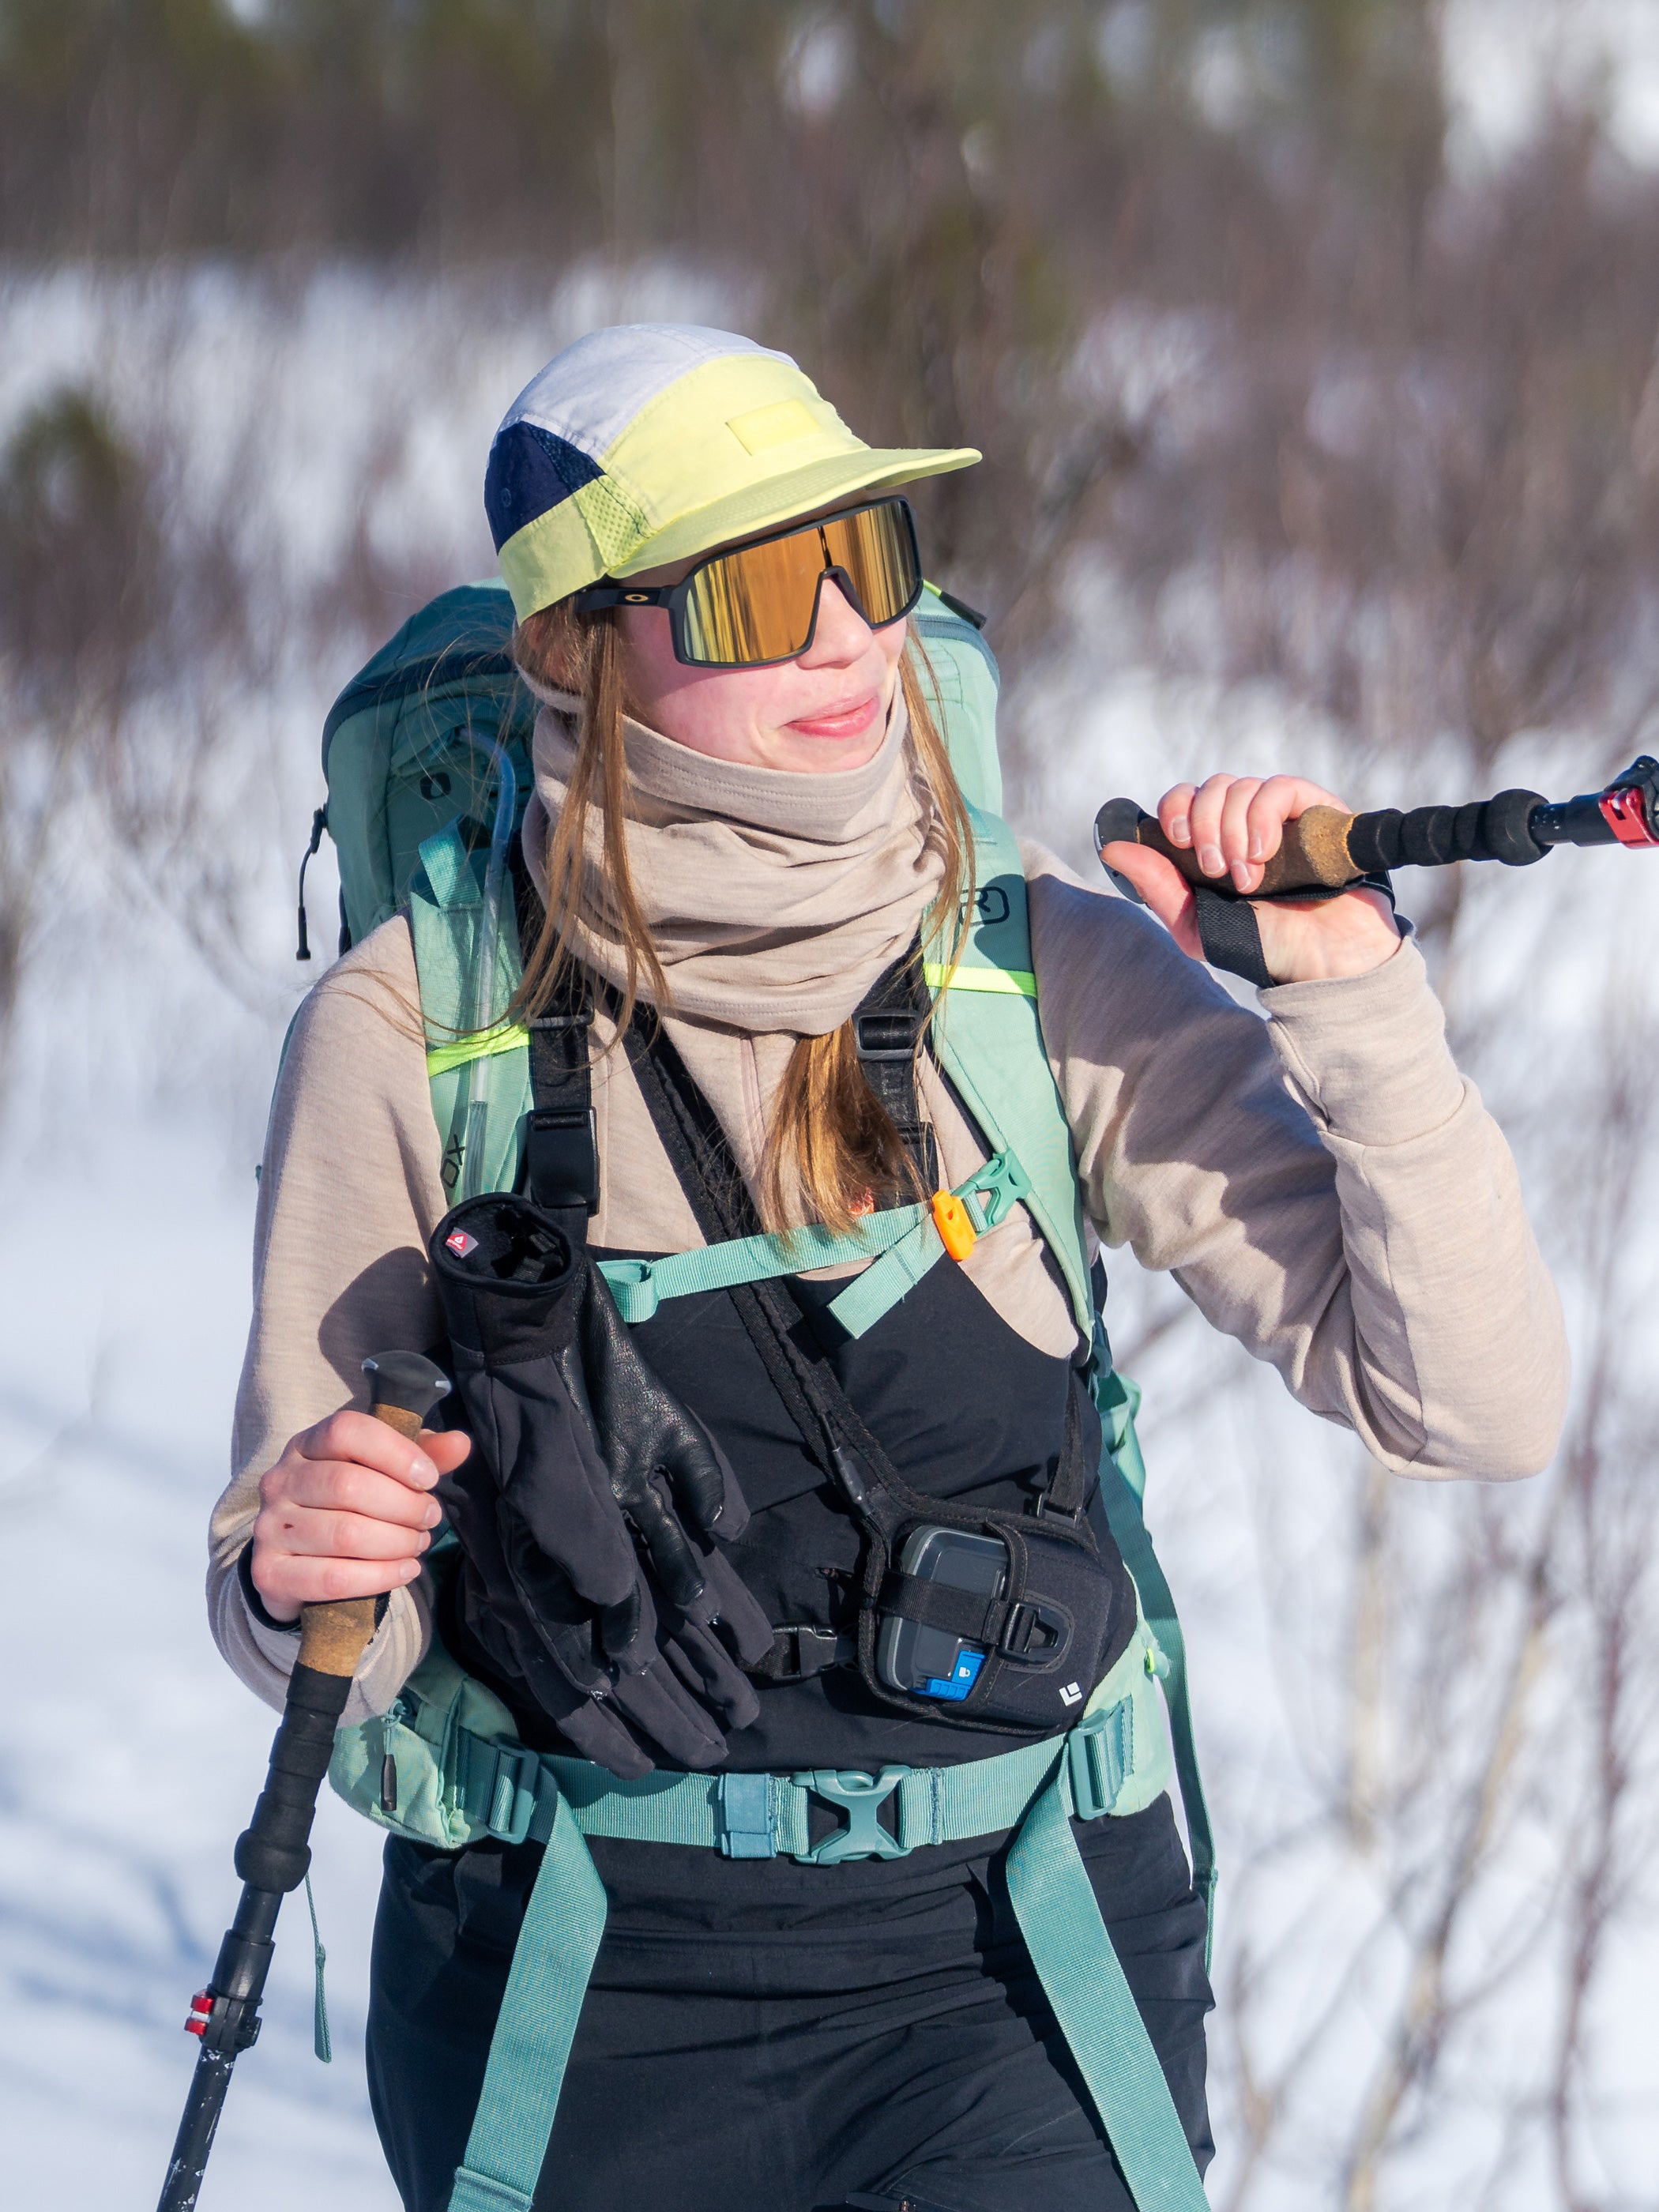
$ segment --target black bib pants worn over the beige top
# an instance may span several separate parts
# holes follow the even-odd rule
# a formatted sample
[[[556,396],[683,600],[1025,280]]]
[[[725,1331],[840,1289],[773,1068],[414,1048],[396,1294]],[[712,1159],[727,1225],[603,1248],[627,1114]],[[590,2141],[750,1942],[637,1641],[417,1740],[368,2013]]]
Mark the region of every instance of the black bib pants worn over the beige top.
[[[838,1285],[792,1290],[810,1314]],[[847,1626],[858,1528],[732,1301],[677,1298],[637,1338],[737,1469],[752,1520],[734,1557],[761,1606]],[[1004,1511],[1053,1469],[1077,1387],[951,1265],[845,1345],[836,1376],[914,1489]],[[1126,1577],[1121,1606],[1119,1648],[1135,1624]],[[566,1747],[478,1655],[456,1657],[491,1679],[529,1743]],[[732,1770],[787,1774],[987,1759],[1029,1739],[914,1719],[841,1666],[763,1686],[761,1719],[730,1741]],[[834,1825],[825,1812],[823,1832]],[[1206,2166],[1206,1916],[1170,1803],[1073,1834]],[[1013,1920],[1006,1840],[803,1867],[588,1838],[608,1918],[538,2212],[1128,2212]],[[407,2212],[449,2201],[540,1856],[387,1843],[369,2095]]]

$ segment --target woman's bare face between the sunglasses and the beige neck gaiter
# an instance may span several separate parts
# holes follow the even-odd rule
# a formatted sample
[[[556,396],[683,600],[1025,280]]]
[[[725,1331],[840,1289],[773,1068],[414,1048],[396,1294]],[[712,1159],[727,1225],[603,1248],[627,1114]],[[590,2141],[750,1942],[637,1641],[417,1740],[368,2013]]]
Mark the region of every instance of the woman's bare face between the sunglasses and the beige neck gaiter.
[[[677,584],[690,566],[628,582]],[[810,776],[863,768],[880,752],[909,624],[872,630],[834,577],[823,580],[807,650],[772,668],[688,668],[675,659],[666,606],[617,613],[630,712],[692,752]]]

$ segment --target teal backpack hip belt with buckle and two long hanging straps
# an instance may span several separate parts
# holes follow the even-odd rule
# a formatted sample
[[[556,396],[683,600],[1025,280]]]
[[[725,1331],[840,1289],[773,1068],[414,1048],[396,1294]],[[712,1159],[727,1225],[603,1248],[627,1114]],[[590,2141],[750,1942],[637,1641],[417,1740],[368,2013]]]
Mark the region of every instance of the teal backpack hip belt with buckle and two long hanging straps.
[[[462,1732],[456,1781],[467,1825],[546,1849],[449,2212],[531,2212],[604,1936],[606,1896],[586,1836],[834,1867],[1009,1829],[1020,1933],[1139,2212],[1203,2212],[1192,2150],[1071,1834],[1073,1818],[1144,1812],[1168,1790],[1161,1670],[1150,1630],[1137,1624],[1066,1736],[951,1767],[617,1781],[586,1759]],[[810,1840],[814,1801],[838,1816],[818,1843]]]

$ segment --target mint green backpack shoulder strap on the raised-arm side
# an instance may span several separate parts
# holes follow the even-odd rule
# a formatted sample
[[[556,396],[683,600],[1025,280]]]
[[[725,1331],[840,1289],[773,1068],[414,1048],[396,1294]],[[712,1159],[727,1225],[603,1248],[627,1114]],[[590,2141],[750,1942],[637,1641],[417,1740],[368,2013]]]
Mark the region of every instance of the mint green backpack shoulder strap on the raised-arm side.
[[[940,995],[933,1051],[998,1152],[1013,1152],[1031,1179],[1026,1208],[1066,1279],[1077,1329],[1088,1343],[1095,1301],[1077,1190],[1077,1159],[1042,1042],[1037,978],[1031,969],[1026,878],[1013,830],[969,805],[973,823],[973,918],[949,975],[925,973]]]

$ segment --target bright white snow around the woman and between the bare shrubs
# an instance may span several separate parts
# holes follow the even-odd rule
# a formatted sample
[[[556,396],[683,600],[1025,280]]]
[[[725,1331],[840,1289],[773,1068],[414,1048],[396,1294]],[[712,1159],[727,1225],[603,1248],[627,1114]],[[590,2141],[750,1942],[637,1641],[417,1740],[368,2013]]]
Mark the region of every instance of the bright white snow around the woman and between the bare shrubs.
[[[1493,18],[1462,13],[1471,27],[1478,13]],[[1469,38],[1478,44],[1475,29]],[[274,288],[204,268],[168,283],[159,303],[137,279],[7,281],[0,431],[64,378],[93,380],[117,420],[159,405],[161,392],[192,425],[197,473],[181,498],[206,511],[223,491],[215,471],[257,411],[270,495],[261,511],[281,526],[272,560],[290,575],[323,573],[338,533],[356,526],[338,487],[361,478],[361,456],[387,425],[392,460],[363,518],[374,542],[418,544],[447,580],[484,573],[482,456],[502,405],[546,354],[611,319],[732,314],[672,268],[635,272],[622,292],[584,279],[531,316],[489,294],[358,270]],[[184,319],[177,283],[188,292]],[[1084,586],[1077,653],[1026,701],[1029,726],[1051,730],[1053,743],[1044,779],[1022,794],[1022,818],[1077,867],[1093,872],[1086,823],[1113,792],[1150,799],[1190,765],[1321,772],[1334,757],[1329,732],[1272,695],[1223,695],[1126,666],[1108,613],[1106,588],[1091,602]],[[88,830],[60,856],[51,931],[13,1040],[0,1148],[0,2172],[15,2203],[153,2203],[195,2059],[179,2028],[237,1898],[230,1847],[263,1776],[272,1714],[210,1646],[204,1526],[223,1482],[248,1318],[263,1106],[288,1013],[319,971],[294,964],[290,938],[292,867],[321,799],[316,734],[330,697],[378,641],[363,637],[338,666],[296,668],[276,697],[241,701],[263,770],[237,847],[234,960],[210,967],[164,891],[126,883]],[[1511,754],[1498,781],[1559,794],[1593,781],[1586,761],[1595,776],[1617,765],[1601,761],[1595,732],[1537,734]],[[1453,781],[1436,781],[1429,754],[1411,790],[1378,781],[1347,796],[1473,796],[1455,774],[1451,761]],[[115,911],[111,883],[122,885]],[[310,878],[319,947],[332,938],[332,902],[325,847]],[[1559,854],[1548,883],[1478,872],[1449,978],[1458,1033],[1475,1040],[1482,1086],[1515,1141],[1575,1334],[1588,1292],[1573,1223],[1590,1181],[1575,1119],[1597,1082],[1608,989],[1624,993],[1632,1022],[1655,1018],[1657,929],[1659,858]],[[1632,1190],[1632,1219],[1639,1199]],[[1652,1239],[1637,1245],[1632,1298],[1652,1298]],[[1451,1807],[1425,1787],[1418,1829],[1387,1865],[1321,1823],[1340,1734],[1338,1646],[1363,1462],[1232,1347],[1188,1325],[1157,1334],[1168,1285],[1137,1281],[1126,1259],[1115,1296],[1119,1343],[1144,1343],[1152,1517],[1188,1619],[1223,1869],[1245,1869],[1221,1907],[1212,2199],[1239,2201],[1250,2179],[1237,2115],[1261,2081],[1241,2075],[1225,1986],[1254,1958],[1272,2002],[1252,2064],[1265,2057],[1272,2068],[1290,2053],[1301,2062],[1252,2203],[1314,2212],[1336,2201],[1334,2146],[1380,2062],[1411,1971],[1400,1924],[1447,1849]],[[1652,1374],[1652,1332],[1641,1358]],[[1433,1486],[1396,1486],[1396,1500],[1394,1548],[1409,1573],[1391,1595],[1409,1610],[1413,1573],[1440,1601],[1447,1562],[1471,1548],[1473,1522],[1462,1498]],[[1484,1509],[1520,1542],[1544,1511],[1544,1489],[1486,1498]],[[1442,1728],[1449,1743],[1464,1721],[1478,1723],[1509,1626],[1495,1604],[1482,1668],[1447,1679],[1425,1741],[1394,1741],[1391,1754],[1431,1754]],[[1513,1949],[1517,1931],[1524,1958],[1484,1993],[1469,1973],[1455,2095],[1418,2115],[1387,2166],[1389,2208],[1524,2212],[1557,2201],[1540,2099],[1566,1964],[1551,1900],[1584,1761],[1586,1657],[1575,1637],[1564,1615],[1535,1694],[1544,1721],[1528,1732],[1533,1763],[1506,1816],[1502,1878],[1458,1938],[1471,1969]],[[1413,1652],[1413,1663],[1431,1672],[1433,1655]],[[1402,1705],[1396,1736],[1420,1725],[1422,1710]],[[1652,1756],[1635,1763],[1650,1836]],[[310,1927],[303,1900],[292,1900],[265,2028],[237,2066],[208,2172],[208,2212],[394,2205],[361,2059],[378,1838],[325,1798],[314,1849],[334,2064],[310,2055]],[[1590,1997],[1586,2170],[1608,2208],[1659,2201],[1650,1860]]]

